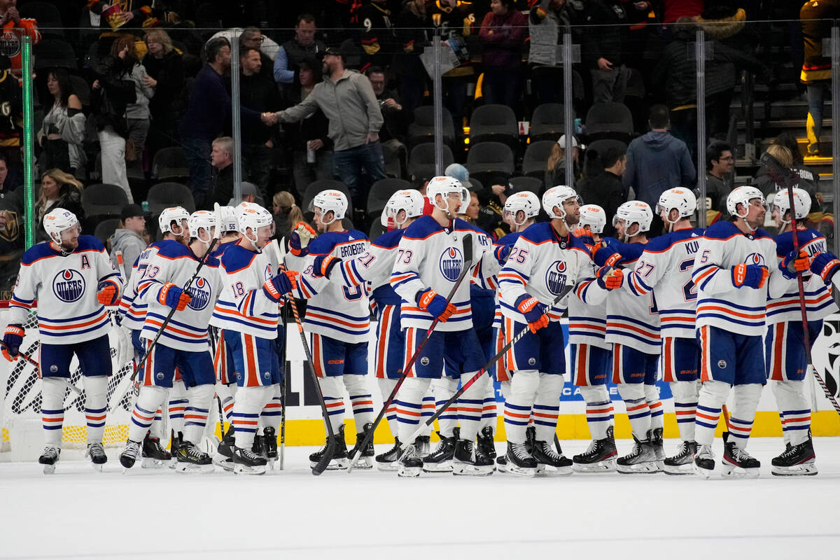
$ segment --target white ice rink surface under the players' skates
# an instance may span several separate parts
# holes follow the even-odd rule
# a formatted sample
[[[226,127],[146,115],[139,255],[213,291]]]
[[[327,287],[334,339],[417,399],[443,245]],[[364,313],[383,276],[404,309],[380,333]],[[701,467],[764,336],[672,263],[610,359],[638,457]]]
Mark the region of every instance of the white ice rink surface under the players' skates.
[[[563,443],[568,456],[588,445]],[[617,444],[619,453],[631,447]],[[666,452],[676,446],[666,442]],[[781,439],[753,439],[748,449],[762,462],[754,480],[314,477],[312,447],[287,447],[286,469],[264,476],[123,474],[115,450],[95,473],[70,451],[52,476],[38,464],[0,463],[0,558],[837,559],[840,437],[814,447],[818,475],[781,478],[769,471]],[[719,462],[719,439],[715,453]]]

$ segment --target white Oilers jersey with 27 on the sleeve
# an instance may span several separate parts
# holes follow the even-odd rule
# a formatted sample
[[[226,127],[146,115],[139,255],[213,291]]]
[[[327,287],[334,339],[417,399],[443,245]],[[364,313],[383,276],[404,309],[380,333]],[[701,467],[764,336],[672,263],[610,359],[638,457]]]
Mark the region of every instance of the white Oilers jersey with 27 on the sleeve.
[[[702,237],[701,228],[687,228],[651,239],[627,274],[625,285],[634,296],[647,301],[653,292],[662,337],[695,337],[697,290],[691,272]]]

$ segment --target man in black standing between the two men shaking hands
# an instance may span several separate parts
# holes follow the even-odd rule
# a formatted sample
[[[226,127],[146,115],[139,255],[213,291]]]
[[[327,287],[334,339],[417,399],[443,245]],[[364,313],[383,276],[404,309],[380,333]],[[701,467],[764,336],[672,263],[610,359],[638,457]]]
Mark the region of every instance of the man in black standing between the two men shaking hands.
[[[239,64],[242,75],[239,76],[240,97],[243,107],[260,113],[274,113],[281,107],[280,92],[270,77],[266,77],[262,68],[260,51],[248,47],[239,51]],[[276,142],[276,128],[265,127],[263,123],[243,123],[242,126],[242,162],[245,175],[262,193],[268,196],[268,181],[271,175],[271,161]]]

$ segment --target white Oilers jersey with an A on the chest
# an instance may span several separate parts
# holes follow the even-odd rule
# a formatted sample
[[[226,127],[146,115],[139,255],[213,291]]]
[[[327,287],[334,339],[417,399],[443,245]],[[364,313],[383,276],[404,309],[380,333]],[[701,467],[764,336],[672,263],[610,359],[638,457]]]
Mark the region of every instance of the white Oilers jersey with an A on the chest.
[[[97,300],[97,286],[113,281],[123,289],[123,277],[113,268],[102,242],[80,235],[79,246],[62,256],[49,242],[24,253],[18,282],[9,301],[9,324],[24,324],[38,308],[38,330],[45,344],[83,343],[108,333],[108,312]]]

